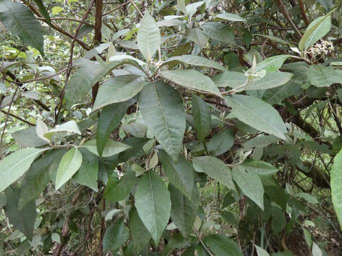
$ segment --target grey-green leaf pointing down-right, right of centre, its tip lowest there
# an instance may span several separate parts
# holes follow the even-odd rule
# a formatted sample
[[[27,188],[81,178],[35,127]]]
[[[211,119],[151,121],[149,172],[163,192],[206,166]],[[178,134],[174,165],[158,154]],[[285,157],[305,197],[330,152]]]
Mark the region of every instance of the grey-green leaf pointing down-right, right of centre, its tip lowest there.
[[[238,165],[233,168],[232,176],[242,192],[264,211],[264,187],[258,174],[246,172]]]

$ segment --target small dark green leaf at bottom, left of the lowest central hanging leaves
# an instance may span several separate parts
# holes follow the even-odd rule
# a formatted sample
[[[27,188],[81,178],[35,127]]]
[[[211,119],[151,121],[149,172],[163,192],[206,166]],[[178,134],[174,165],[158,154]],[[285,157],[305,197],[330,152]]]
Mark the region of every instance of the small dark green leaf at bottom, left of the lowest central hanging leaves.
[[[129,238],[128,228],[121,217],[115,223],[110,224],[103,236],[103,252],[114,251],[121,247]]]

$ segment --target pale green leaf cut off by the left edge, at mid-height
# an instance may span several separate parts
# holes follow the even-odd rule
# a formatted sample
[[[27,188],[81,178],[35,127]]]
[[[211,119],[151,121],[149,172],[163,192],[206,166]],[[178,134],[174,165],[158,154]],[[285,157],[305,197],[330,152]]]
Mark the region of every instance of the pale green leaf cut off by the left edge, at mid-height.
[[[0,192],[24,174],[35,157],[46,149],[23,148],[0,161]]]

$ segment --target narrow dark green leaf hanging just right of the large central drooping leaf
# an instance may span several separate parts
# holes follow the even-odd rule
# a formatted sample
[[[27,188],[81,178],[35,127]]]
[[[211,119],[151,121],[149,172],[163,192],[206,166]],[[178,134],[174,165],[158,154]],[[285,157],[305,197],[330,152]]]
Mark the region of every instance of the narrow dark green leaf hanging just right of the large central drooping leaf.
[[[204,140],[210,132],[211,112],[208,105],[200,97],[192,94],[192,115],[199,140]]]

